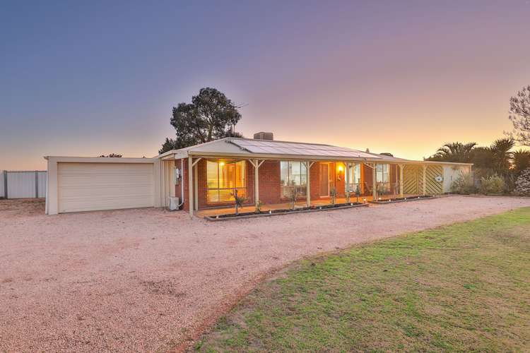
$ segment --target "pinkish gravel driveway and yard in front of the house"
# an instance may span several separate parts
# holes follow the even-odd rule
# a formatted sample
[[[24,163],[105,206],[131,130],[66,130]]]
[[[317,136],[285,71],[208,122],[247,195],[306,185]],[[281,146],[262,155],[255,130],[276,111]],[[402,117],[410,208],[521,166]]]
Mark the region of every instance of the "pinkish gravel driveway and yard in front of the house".
[[[0,351],[179,349],[290,261],[521,206],[452,196],[227,222],[0,201]]]

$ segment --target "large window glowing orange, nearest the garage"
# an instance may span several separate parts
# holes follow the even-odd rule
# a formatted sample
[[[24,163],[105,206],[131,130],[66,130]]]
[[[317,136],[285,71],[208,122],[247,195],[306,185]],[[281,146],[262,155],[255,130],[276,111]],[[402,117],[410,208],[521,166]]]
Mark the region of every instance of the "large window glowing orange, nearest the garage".
[[[208,203],[225,203],[234,201],[234,191],[237,196],[247,195],[247,181],[245,177],[245,161],[240,162],[206,162]]]

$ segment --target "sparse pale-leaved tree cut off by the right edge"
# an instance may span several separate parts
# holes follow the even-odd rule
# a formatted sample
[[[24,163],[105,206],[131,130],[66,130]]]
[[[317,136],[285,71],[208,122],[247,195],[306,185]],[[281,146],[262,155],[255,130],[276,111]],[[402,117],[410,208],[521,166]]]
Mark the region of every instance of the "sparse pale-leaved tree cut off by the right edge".
[[[530,85],[517,92],[510,98],[510,116],[513,131],[508,133],[510,138],[518,143],[530,146]]]

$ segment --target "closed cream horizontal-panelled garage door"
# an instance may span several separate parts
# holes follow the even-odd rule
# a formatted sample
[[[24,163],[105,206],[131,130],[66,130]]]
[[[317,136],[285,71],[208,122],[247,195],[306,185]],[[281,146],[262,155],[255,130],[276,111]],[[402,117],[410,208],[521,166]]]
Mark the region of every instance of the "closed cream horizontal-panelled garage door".
[[[58,163],[59,213],[153,207],[151,163]]]

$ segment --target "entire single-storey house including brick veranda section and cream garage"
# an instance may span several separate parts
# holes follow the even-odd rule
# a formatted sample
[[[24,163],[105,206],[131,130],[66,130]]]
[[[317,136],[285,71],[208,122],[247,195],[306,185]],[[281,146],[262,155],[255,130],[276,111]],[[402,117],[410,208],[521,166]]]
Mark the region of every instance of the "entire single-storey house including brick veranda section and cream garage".
[[[272,133],[222,138],[153,158],[45,157],[48,214],[116,208],[189,211],[329,198],[404,197],[449,192],[471,164],[405,160],[317,143],[273,140]]]

